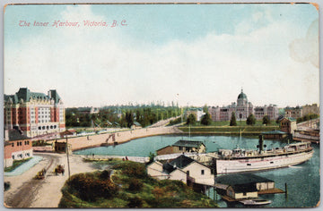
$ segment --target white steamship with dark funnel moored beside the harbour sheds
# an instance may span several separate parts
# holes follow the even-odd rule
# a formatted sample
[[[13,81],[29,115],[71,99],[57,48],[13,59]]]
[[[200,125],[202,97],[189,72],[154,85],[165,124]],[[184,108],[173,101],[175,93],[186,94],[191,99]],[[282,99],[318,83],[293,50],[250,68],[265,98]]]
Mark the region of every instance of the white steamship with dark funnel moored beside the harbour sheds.
[[[263,139],[260,138],[258,148],[258,150],[219,149],[218,156],[214,160],[216,173],[252,172],[299,165],[309,160],[314,153],[310,142],[264,150]]]

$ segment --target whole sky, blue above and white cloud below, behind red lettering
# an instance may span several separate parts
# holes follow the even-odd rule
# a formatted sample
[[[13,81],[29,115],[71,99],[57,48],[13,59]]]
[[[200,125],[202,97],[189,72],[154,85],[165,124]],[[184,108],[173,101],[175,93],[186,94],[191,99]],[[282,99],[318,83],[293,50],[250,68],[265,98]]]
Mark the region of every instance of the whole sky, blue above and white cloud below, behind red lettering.
[[[57,89],[66,107],[222,106],[241,88],[253,105],[319,104],[319,12],[311,4],[7,5],[4,94],[22,87]]]

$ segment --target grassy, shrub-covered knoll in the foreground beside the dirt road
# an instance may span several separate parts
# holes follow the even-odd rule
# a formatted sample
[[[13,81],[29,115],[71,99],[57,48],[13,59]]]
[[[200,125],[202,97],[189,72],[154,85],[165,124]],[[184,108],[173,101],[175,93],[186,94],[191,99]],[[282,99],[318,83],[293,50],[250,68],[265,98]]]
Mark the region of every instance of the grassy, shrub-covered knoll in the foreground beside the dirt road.
[[[153,179],[144,164],[121,160],[99,163],[109,170],[73,175],[62,189],[58,207],[217,207],[211,198],[182,181]]]

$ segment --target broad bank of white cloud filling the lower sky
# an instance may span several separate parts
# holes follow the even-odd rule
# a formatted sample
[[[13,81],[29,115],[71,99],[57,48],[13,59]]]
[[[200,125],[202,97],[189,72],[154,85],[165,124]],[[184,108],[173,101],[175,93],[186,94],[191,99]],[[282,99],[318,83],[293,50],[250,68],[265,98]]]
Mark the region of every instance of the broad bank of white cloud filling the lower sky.
[[[62,20],[82,17],[103,19],[83,5],[68,7]],[[226,105],[240,87],[254,105],[319,102],[319,72],[289,58],[298,30],[279,22],[144,51],[123,45],[122,30],[48,30],[6,51],[4,91],[57,89],[67,106],[176,101],[177,93],[181,105]]]

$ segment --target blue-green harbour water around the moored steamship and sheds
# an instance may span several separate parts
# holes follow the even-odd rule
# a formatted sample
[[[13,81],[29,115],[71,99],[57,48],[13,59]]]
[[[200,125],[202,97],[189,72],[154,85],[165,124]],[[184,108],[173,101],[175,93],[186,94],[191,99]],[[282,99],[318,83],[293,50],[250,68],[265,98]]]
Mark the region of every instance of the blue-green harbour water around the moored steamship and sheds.
[[[213,152],[220,148],[241,148],[257,149],[258,139],[228,137],[228,136],[153,136],[143,139],[134,139],[127,143],[100,147],[88,148],[74,152],[78,155],[110,155],[110,156],[149,156],[159,148],[172,145],[179,139],[192,139],[204,141],[206,152]],[[265,140],[266,148],[278,148],[285,144],[275,140]],[[261,198],[270,199],[273,202],[264,207],[316,207],[320,198],[320,177],[319,177],[319,146],[312,144],[314,155],[312,158],[301,164],[287,168],[275,169],[255,174],[275,181],[275,187],[285,190],[287,183],[288,194],[262,195]],[[210,198],[214,193],[210,191]],[[218,205],[220,207],[244,207],[241,204],[228,204],[220,196]]]

